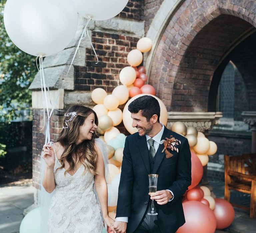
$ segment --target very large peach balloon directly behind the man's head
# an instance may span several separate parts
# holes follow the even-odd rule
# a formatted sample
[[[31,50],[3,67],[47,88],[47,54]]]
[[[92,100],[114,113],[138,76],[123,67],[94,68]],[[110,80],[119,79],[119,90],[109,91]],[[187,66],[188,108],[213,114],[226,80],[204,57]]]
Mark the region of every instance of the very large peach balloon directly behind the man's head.
[[[138,97],[141,97],[141,96],[153,96],[153,95],[150,95],[150,94],[140,94],[140,95],[134,96],[124,106],[124,110],[123,110],[123,123],[124,123],[124,126],[127,129],[127,131],[129,133],[131,133],[131,134],[137,132],[138,130],[136,128],[132,127],[132,118],[131,118],[131,113],[128,110],[128,105],[132,101],[134,101],[135,99],[137,99]],[[160,122],[162,122],[164,125],[166,125],[167,124],[167,120],[168,120],[167,109],[166,109],[164,103],[159,98],[157,98],[156,96],[153,96],[153,97],[157,99],[157,101],[158,101],[158,103],[160,105]]]

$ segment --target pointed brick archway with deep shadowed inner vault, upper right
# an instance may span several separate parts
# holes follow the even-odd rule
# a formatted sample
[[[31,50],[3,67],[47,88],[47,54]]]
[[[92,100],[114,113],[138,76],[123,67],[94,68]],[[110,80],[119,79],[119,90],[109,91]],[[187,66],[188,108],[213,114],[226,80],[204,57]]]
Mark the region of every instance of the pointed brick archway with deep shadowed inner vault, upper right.
[[[171,17],[149,71],[149,84],[168,111],[208,111],[214,72],[256,26],[256,3],[233,2],[186,0]]]

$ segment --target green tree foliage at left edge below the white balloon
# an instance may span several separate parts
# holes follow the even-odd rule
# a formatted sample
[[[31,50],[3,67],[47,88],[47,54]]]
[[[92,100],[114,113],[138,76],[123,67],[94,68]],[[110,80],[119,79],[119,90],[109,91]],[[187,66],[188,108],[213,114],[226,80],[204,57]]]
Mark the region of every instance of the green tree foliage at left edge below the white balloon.
[[[0,120],[10,122],[22,110],[31,108],[28,89],[37,73],[35,57],[22,52],[8,37],[4,28],[4,5],[0,0]]]

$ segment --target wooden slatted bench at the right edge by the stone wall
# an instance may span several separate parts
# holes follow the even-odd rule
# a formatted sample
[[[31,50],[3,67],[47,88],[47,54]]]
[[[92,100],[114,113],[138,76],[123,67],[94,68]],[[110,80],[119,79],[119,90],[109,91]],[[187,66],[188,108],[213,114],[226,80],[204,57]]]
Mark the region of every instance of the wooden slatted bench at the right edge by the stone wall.
[[[250,218],[256,217],[256,153],[239,156],[224,155],[225,193],[230,202],[230,190],[251,195],[250,208],[231,203],[233,206],[250,210]]]

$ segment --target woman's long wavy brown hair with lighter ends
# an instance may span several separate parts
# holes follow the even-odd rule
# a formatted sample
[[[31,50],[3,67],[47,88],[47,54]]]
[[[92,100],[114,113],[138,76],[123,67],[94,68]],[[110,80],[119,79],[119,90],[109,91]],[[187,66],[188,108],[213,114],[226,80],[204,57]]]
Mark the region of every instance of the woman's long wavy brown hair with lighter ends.
[[[69,168],[64,172],[64,175],[66,175],[67,172],[74,169],[74,159],[75,161],[79,159],[79,162],[84,165],[85,171],[89,170],[93,175],[95,175],[97,152],[94,145],[95,138],[98,136],[96,134],[93,134],[91,140],[84,140],[78,145],[76,145],[76,141],[78,140],[79,136],[79,126],[84,124],[85,119],[91,113],[93,113],[95,116],[95,124],[98,125],[98,117],[92,109],[79,105],[71,106],[66,113],[71,112],[76,112],[76,116],[71,121],[67,122],[68,128],[63,128],[57,139],[57,142],[59,142],[65,148],[63,154],[59,159],[61,166],[57,169],[64,168],[64,161],[66,160],[69,164]],[[68,119],[70,119],[70,116],[64,118],[64,127],[66,127],[65,120]],[[75,156],[74,159],[73,156]]]

